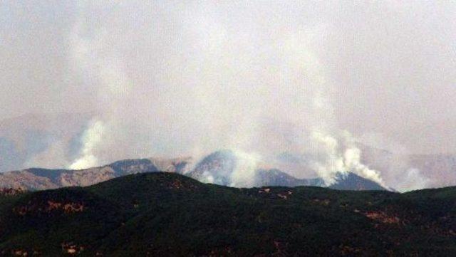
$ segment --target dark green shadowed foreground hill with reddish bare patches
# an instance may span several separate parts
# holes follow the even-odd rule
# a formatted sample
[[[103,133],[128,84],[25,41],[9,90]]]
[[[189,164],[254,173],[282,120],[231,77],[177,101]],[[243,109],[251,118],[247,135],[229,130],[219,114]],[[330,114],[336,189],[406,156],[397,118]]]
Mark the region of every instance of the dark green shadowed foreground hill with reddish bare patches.
[[[0,196],[2,256],[455,256],[456,188],[236,189],[171,173]]]

